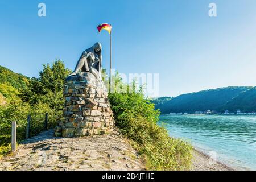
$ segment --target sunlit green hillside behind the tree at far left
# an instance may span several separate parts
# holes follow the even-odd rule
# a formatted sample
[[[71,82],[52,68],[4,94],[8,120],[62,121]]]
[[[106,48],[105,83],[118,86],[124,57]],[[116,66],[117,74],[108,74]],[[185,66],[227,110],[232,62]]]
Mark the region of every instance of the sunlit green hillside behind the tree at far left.
[[[16,97],[20,90],[27,87],[27,83],[28,77],[0,66],[0,104]]]

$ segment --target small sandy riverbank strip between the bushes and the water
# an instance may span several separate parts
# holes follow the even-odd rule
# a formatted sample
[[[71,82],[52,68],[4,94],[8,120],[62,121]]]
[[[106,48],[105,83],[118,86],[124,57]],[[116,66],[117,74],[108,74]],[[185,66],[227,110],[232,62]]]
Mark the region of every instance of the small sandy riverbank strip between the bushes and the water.
[[[234,171],[232,167],[218,162],[209,164],[209,156],[198,150],[193,150],[192,171]]]

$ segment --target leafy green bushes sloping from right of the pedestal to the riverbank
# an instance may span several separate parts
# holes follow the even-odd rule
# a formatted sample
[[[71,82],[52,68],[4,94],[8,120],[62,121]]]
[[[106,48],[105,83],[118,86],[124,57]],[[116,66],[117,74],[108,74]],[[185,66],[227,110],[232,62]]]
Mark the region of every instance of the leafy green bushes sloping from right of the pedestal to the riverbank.
[[[115,82],[121,81],[116,78]],[[127,89],[134,89],[134,85]],[[189,169],[192,147],[183,140],[169,137],[167,130],[157,125],[159,110],[154,110],[154,104],[144,99],[142,92],[112,93],[109,100],[116,125],[143,157],[147,169]]]

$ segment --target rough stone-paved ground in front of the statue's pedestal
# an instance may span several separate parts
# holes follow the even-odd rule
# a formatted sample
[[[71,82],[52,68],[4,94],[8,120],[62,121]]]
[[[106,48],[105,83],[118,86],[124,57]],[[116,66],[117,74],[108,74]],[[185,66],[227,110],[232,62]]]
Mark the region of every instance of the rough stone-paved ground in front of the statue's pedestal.
[[[56,138],[53,130],[25,140],[1,170],[143,170],[144,164],[117,130],[109,135]]]

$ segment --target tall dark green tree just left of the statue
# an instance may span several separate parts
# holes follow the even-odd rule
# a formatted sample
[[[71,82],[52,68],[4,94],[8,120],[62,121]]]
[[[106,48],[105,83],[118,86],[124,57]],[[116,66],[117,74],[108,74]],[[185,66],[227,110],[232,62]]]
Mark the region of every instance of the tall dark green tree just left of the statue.
[[[31,78],[28,88],[22,91],[20,97],[32,105],[43,102],[49,104],[52,109],[62,109],[63,85],[71,70],[65,68],[61,60],[56,60],[52,65],[43,64],[43,67],[39,78]]]

